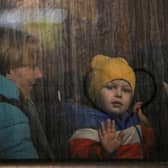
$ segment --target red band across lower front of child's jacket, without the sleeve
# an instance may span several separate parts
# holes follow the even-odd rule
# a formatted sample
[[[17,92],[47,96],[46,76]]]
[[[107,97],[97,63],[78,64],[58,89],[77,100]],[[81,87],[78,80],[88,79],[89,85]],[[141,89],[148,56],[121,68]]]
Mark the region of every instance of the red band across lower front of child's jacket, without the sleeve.
[[[103,159],[102,147],[99,143],[90,139],[74,139],[70,141],[70,153],[72,158]],[[129,152],[128,152],[129,151]],[[109,158],[109,157],[108,157]],[[142,159],[141,145],[129,144],[118,148],[111,159]]]

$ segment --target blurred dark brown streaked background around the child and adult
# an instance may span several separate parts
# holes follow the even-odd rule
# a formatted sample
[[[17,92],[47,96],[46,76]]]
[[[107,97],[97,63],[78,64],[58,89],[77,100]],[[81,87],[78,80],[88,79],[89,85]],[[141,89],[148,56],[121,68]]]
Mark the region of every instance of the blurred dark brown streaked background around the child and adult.
[[[143,110],[155,130],[151,160],[168,161],[167,9],[167,0],[0,0],[0,26],[31,33],[43,46],[44,78],[33,97],[57,160],[68,160],[73,131],[63,105],[83,100],[90,60],[104,54],[152,73],[154,81],[137,73],[135,101],[150,100],[156,84]]]

